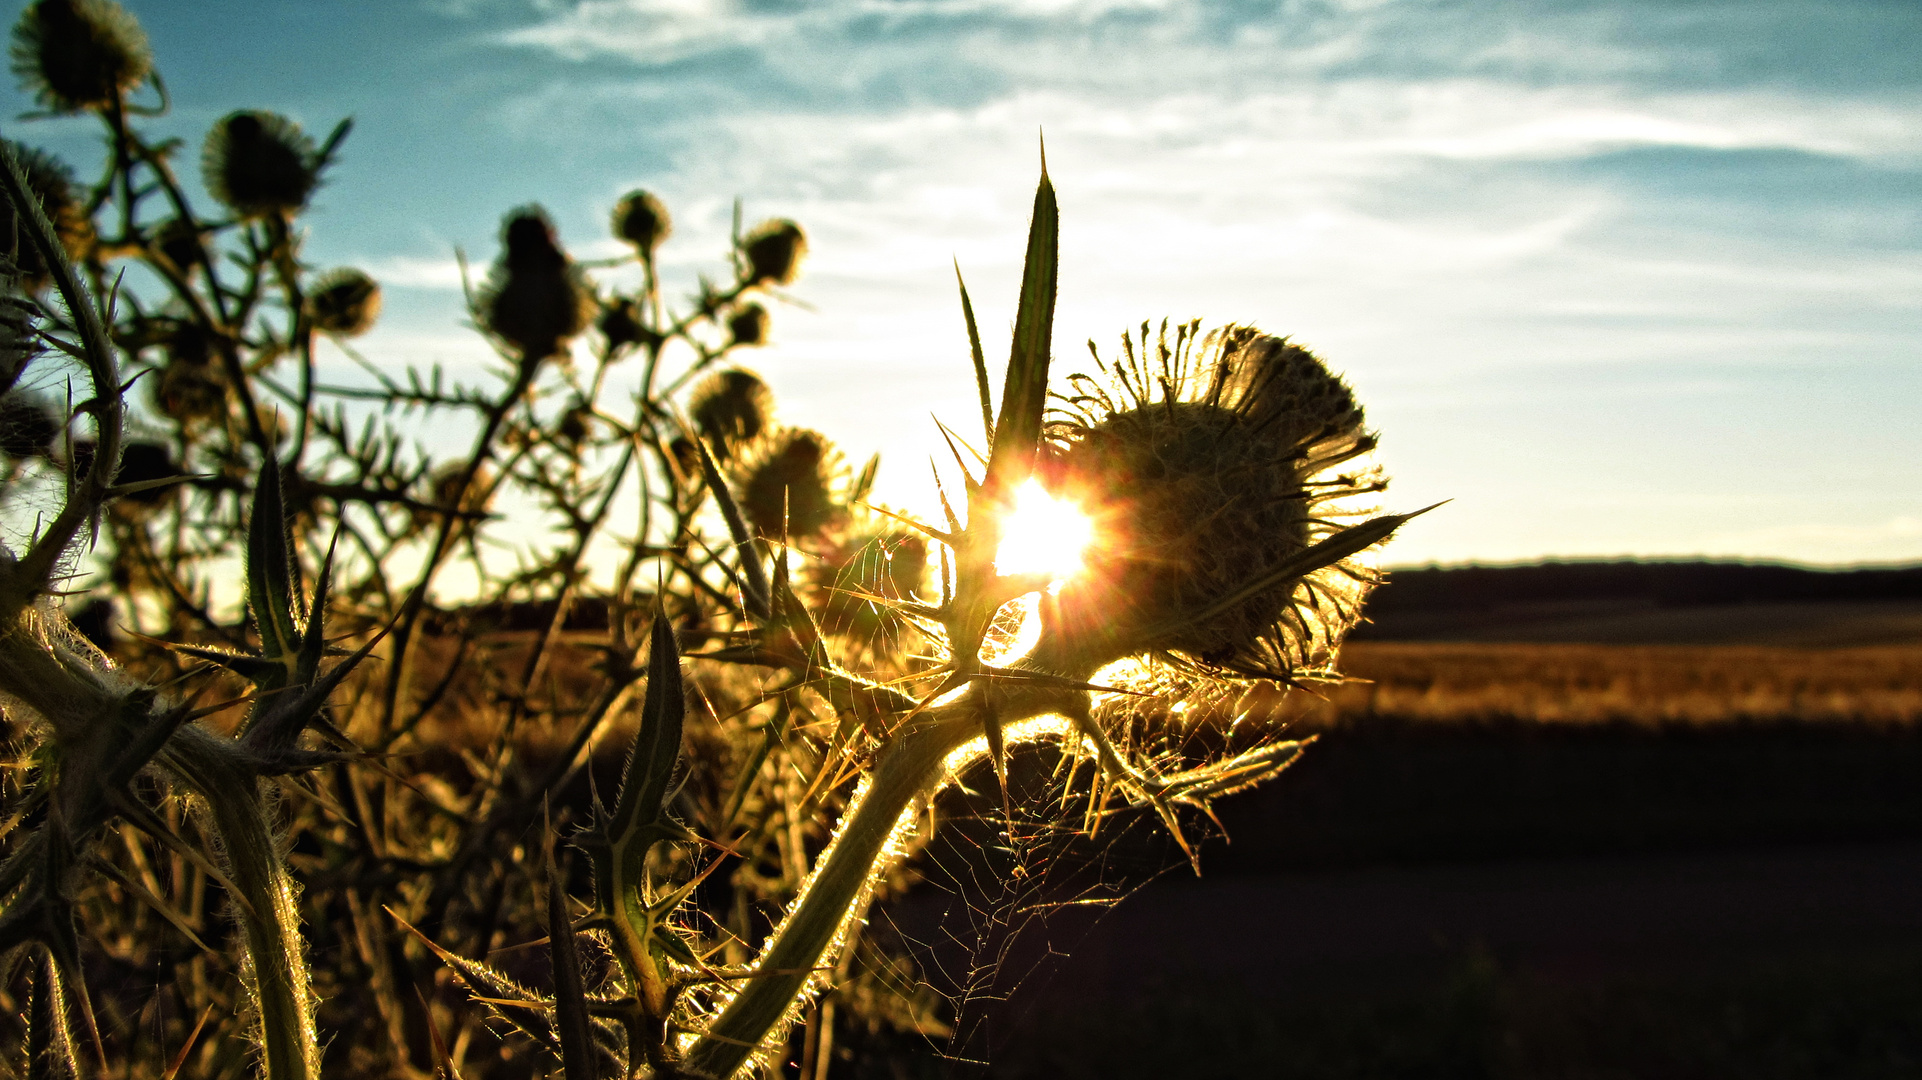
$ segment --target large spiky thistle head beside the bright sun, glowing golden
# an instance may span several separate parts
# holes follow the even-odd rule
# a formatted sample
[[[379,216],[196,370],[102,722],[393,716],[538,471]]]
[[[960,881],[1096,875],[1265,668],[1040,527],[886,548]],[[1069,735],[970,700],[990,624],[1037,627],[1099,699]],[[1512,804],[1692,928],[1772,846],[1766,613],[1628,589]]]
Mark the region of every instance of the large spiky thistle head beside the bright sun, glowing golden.
[[[1347,384],[1249,327],[1163,325],[1072,377],[1044,482],[1096,515],[1086,571],[1044,605],[1044,646],[1099,669],[1134,653],[1294,680],[1332,665],[1374,575],[1338,561],[1234,600],[1359,513],[1386,480]],[[1090,346],[1092,348],[1092,346]],[[1332,471],[1349,465],[1340,475]],[[1226,603],[1226,605],[1224,605]]]

